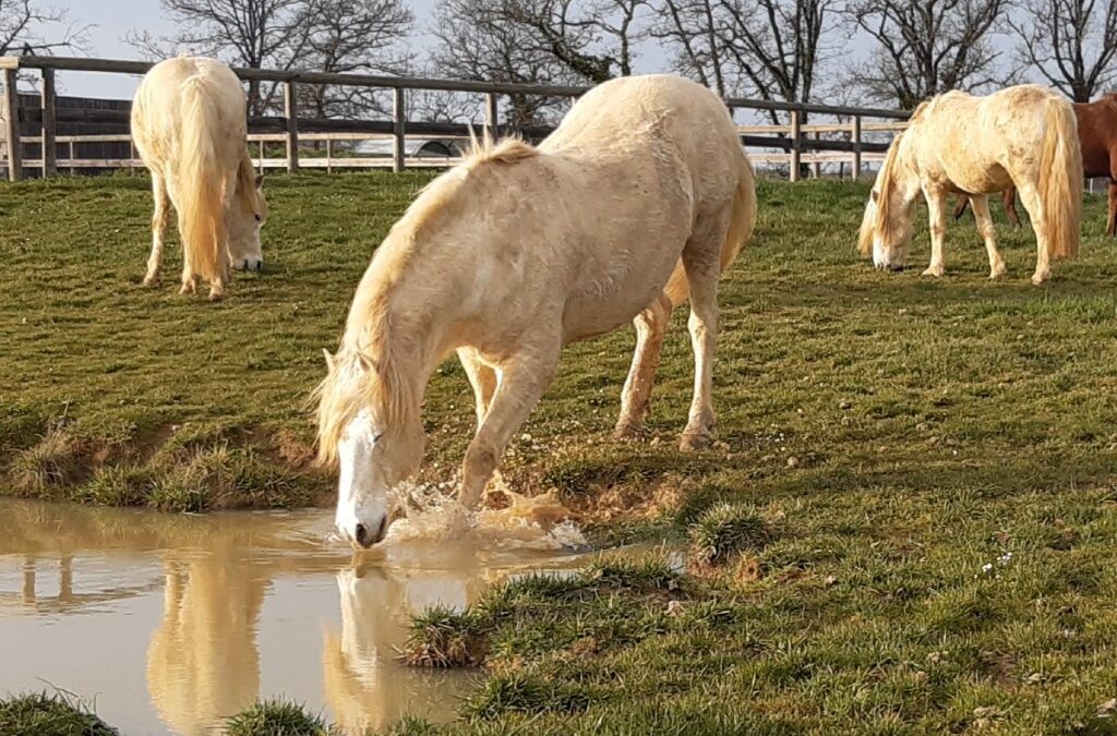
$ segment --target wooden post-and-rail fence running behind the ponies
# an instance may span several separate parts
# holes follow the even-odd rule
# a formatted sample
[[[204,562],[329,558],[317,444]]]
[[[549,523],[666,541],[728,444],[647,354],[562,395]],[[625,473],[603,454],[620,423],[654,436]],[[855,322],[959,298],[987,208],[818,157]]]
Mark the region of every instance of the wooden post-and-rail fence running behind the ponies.
[[[126,124],[127,112],[123,109],[66,109],[59,108],[55,94],[56,71],[97,71],[106,74],[141,75],[151,68],[146,61],[112,59],[86,59],[48,56],[0,57],[0,73],[3,74],[3,101],[0,118],[3,121],[0,143],[6,151],[8,176],[12,181],[25,174],[25,169],[37,170],[44,176],[51,176],[58,169],[70,171],[83,169],[121,169],[142,166],[134,149],[127,159],[83,159],[75,153],[75,146],[90,143],[127,143],[126,134],[109,135],[59,135],[61,123],[106,123]],[[40,74],[39,105],[20,105],[16,90],[17,74],[20,69],[37,69]],[[407,155],[407,142],[414,138],[468,138],[469,126],[449,123],[427,123],[407,120],[407,94],[411,90],[442,90],[450,93],[479,94],[485,97],[485,123],[487,132],[495,135],[515,132],[531,140],[544,137],[550,128],[516,127],[500,125],[498,103],[503,95],[531,95],[576,99],[586,87],[541,86],[494,82],[470,82],[452,79],[426,79],[386,77],[357,74],[328,74],[321,71],[277,71],[271,69],[235,69],[242,80],[271,82],[281,85],[284,98],[283,116],[250,117],[249,142],[255,152],[256,164],[261,169],[281,168],[296,172],[303,168],[322,168],[327,171],[343,168],[390,166],[402,171],[409,166],[447,165],[449,159],[430,160]],[[390,120],[356,121],[336,118],[299,117],[296,85],[330,85],[364,87],[390,90],[392,114]],[[787,115],[786,125],[742,125],[742,143],[754,151],[750,156],[758,164],[784,164],[792,181],[798,180],[809,166],[819,176],[824,164],[846,164],[853,178],[859,176],[869,161],[879,161],[888,146],[890,133],[903,130],[909,113],[895,109],[867,107],[842,107],[814,104],[776,103],[758,99],[728,98],[731,111],[753,109]],[[832,124],[806,124],[808,116],[833,117]],[[877,121],[877,122],[871,122]],[[38,135],[22,135],[20,127],[34,125]],[[876,140],[866,140],[866,134]],[[875,134],[875,135],[873,135]],[[334,155],[341,147],[369,138],[388,138],[392,142],[391,155],[367,157]],[[300,155],[303,144],[324,144],[325,155],[307,157]],[[23,155],[25,145],[34,145],[40,152],[38,159]],[[273,145],[268,145],[273,144]],[[59,157],[58,151],[68,156]],[[269,155],[269,149],[280,149],[281,156]],[[760,149],[760,151],[755,151]],[[773,150],[775,152],[773,152]]]

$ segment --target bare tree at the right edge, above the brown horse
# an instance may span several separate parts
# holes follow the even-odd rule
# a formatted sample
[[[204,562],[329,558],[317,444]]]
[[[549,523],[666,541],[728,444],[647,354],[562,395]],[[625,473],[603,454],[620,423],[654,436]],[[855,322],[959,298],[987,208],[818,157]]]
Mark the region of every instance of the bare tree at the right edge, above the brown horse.
[[[1075,102],[1117,78],[1117,0],[1023,0],[1008,19],[1016,59]]]

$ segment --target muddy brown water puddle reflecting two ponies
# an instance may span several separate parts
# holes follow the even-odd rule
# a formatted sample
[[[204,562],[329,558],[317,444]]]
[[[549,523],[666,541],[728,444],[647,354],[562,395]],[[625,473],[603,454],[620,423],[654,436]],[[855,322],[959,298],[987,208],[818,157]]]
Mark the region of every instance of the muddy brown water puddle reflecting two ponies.
[[[431,519],[354,556],[331,519],[0,501],[0,697],[71,692],[124,734],[218,733],[278,696],[346,732],[445,721],[476,675],[401,665],[410,615],[586,560],[570,528]]]

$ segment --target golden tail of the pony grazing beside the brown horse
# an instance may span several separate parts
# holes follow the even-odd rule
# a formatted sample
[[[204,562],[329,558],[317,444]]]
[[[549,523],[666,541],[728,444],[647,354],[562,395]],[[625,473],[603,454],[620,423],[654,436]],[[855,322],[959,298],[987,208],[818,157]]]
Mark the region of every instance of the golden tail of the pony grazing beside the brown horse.
[[[1047,132],[1040,162],[1039,190],[1048,256],[1068,258],[1078,252],[1082,219],[1082,152],[1075,108],[1063,99],[1048,99]]]

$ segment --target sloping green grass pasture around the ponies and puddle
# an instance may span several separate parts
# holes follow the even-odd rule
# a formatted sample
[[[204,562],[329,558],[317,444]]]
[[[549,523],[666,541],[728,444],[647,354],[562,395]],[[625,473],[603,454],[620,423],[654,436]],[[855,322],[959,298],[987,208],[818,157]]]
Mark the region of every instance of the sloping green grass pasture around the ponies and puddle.
[[[266,271],[221,304],[140,286],[142,178],[0,188],[6,493],[165,509],[328,503],[307,395],[374,245],[428,174],[267,184]],[[867,185],[761,182],[724,280],[718,445],[675,449],[690,395],[676,315],[648,441],[609,439],[632,335],[567,350],[506,459],[602,543],[655,558],[430,612],[416,665],[484,660],[450,732],[1113,733],[1117,717],[1117,245],[1104,202],[1052,281],[1003,224],[991,284],[972,220],[947,276],[855,254]],[[448,363],[427,472],[472,427]],[[432,733],[419,721],[401,732]]]

